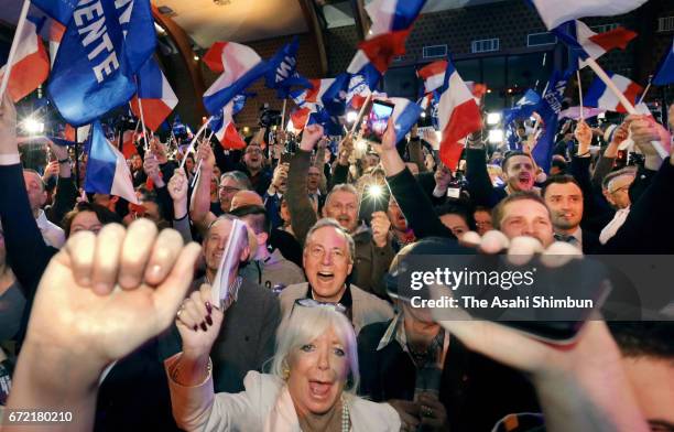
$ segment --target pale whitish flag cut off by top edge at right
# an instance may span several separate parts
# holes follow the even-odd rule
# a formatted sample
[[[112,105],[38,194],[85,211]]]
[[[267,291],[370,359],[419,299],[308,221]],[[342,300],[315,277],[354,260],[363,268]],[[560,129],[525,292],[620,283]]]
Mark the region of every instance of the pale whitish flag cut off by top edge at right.
[[[539,11],[547,30],[583,17],[621,15],[648,0],[529,0]]]

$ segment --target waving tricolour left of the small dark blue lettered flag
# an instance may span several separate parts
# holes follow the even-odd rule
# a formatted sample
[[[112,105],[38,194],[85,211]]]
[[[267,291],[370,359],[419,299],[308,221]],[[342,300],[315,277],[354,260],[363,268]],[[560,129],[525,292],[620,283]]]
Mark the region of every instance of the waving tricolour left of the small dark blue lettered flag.
[[[256,79],[264,76],[267,63],[251,47],[235,42],[216,42],[204,62],[220,76],[204,94],[204,106],[217,115],[235,96],[243,93]]]

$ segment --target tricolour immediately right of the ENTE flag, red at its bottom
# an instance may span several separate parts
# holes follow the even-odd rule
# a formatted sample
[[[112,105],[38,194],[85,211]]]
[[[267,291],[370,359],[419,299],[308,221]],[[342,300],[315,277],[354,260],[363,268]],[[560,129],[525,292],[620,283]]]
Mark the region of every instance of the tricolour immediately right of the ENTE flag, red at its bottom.
[[[138,100],[140,98],[145,126],[156,131],[173,111],[178,99],[153,57],[148,58],[138,72],[137,77],[138,91],[131,99],[131,110],[137,118],[141,118]]]

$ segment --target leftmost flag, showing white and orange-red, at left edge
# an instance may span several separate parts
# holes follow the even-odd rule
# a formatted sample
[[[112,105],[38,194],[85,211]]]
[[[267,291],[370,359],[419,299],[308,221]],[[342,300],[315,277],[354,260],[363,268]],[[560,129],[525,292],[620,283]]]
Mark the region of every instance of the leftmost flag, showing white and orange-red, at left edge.
[[[7,90],[18,101],[46,80],[50,75],[50,57],[37,35],[37,26],[30,19],[25,20],[22,33],[14,37],[19,37],[19,41]],[[7,65],[0,68],[0,80],[6,71]]]

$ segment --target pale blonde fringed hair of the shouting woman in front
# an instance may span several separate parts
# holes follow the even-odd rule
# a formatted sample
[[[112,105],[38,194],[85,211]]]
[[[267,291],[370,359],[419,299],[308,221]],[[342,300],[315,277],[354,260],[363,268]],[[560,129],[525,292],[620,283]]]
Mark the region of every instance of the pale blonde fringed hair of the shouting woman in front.
[[[291,356],[303,345],[333,330],[344,344],[348,374],[345,391],[355,395],[360,382],[356,333],[349,320],[328,305],[312,307],[296,305],[276,331],[276,354],[271,359],[271,374],[284,379],[284,369],[291,368]]]

